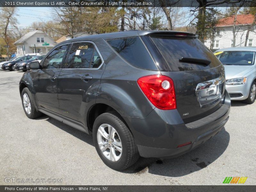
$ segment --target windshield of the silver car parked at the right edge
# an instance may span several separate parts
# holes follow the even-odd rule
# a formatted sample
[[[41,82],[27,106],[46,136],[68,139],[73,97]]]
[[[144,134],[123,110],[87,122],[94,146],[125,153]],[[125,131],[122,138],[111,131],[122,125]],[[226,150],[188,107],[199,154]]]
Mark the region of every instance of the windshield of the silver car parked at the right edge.
[[[224,51],[216,55],[223,65],[253,65],[253,51]]]

